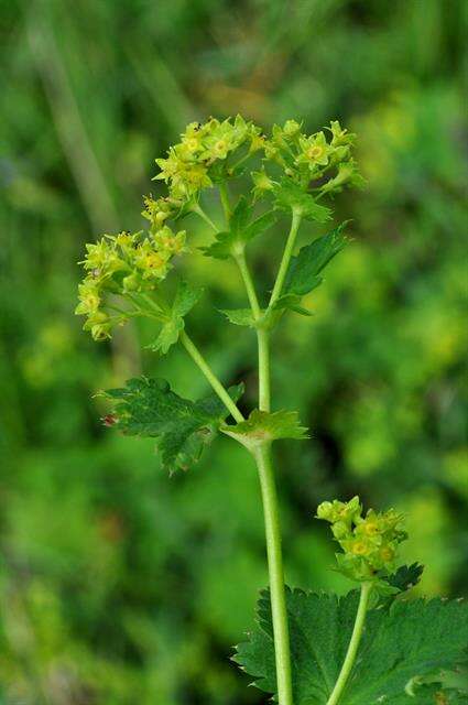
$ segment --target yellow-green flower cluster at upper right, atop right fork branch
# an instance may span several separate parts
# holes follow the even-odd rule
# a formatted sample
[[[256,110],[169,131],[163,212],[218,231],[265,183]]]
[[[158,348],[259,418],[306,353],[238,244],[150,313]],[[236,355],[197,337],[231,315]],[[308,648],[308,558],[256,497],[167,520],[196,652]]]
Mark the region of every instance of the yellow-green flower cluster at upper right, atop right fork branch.
[[[337,120],[326,131],[328,139],[323,130],[305,134],[302,124],[295,120],[286,120],[283,127],[275,124],[271,138],[264,142],[265,160],[277,164],[303,188],[319,180],[317,191],[324,193],[336,193],[345,185],[361,185],[363,180],[351,156],[356,135],[342,129]],[[257,194],[271,189],[274,184],[264,170],[254,173],[253,181]]]

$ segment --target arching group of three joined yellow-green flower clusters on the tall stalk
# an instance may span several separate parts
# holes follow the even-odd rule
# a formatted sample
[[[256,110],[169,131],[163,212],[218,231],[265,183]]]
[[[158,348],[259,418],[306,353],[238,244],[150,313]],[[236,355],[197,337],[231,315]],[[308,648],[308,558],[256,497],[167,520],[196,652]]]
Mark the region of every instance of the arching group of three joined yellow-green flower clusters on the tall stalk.
[[[187,251],[186,232],[175,221],[188,213],[202,215],[202,191],[241,177],[251,158],[262,161],[260,171],[250,172],[251,202],[264,196],[274,200],[277,189],[287,184],[315,200],[345,185],[360,185],[362,177],[351,156],[353,134],[337,121],[327,133],[328,139],[325,131],[307,135],[301,123],[287,120],[265,137],[241,116],[188,124],[181,142],[170,148],[166,158],[156,160],[161,171],[154,178],[163,181],[167,192],[159,198],[144,197],[148,230],[105,235],[86,246],[81,262],[86,276],[79,284],[76,308],[87,317],[84,328],[96,340],[104,340],[111,337],[116,325],[144,315],[143,296],[154,295],[174,257]]]

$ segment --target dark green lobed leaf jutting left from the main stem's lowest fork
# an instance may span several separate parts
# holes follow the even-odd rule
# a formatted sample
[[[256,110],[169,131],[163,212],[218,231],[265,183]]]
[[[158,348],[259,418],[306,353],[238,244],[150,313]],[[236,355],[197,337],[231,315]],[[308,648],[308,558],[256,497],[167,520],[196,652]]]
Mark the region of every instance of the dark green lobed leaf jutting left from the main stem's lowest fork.
[[[228,391],[237,401],[243,384]],[[122,433],[157,438],[163,467],[170,471],[194,465],[229,414],[215,394],[193,402],[162,379],[138,377],[102,394],[113,402],[112,420]]]

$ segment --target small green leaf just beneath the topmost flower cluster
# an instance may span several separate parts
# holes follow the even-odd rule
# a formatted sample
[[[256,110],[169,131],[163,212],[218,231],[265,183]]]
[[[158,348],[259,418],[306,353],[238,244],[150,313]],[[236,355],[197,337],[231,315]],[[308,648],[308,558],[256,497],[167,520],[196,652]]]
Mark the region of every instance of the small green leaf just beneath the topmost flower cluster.
[[[200,248],[203,252],[220,260],[236,257],[250,240],[271,228],[276,220],[274,210],[268,210],[251,220],[252,214],[253,205],[249,204],[244,196],[241,196],[232,212],[230,229],[218,232],[215,242]]]

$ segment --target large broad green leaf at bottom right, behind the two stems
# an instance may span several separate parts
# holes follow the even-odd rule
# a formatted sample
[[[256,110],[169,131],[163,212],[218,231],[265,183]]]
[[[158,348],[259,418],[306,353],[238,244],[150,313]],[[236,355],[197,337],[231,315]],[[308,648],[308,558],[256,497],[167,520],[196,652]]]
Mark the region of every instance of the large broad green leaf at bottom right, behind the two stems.
[[[287,590],[286,598],[294,704],[325,705],[345,659],[359,592],[337,597],[295,589]],[[464,661],[467,643],[468,609],[459,600],[396,600],[388,608],[372,609],[340,705],[418,703],[405,691],[412,679],[454,669]],[[235,661],[255,679],[257,687],[275,694],[268,592],[259,601],[257,627],[237,647]]]

